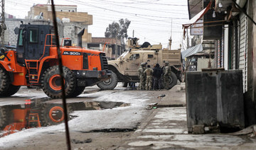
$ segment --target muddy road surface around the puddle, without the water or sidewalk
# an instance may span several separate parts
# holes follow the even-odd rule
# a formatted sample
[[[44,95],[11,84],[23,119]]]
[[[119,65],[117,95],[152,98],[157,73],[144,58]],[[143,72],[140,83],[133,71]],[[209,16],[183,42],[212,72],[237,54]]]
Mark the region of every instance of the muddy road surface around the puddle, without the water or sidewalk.
[[[30,89],[30,92],[35,96],[38,96],[38,94],[43,94],[41,91],[33,92],[33,90],[36,89]],[[25,91],[26,89],[23,90],[23,92]],[[89,101],[97,98],[97,100],[99,100],[99,96],[87,96],[88,93],[98,92],[100,91],[97,91],[97,87],[89,89],[87,88],[84,97],[81,96],[75,100],[85,100],[86,98]],[[119,110],[119,108],[107,110],[105,113],[118,110],[117,113],[110,113],[110,115],[107,115],[107,117],[106,115],[102,115],[102,120],[107,120],[109,117],[109,122],[98,121],[97,123],[95,120],[101,120],[100,117],[92,117],[92,120],[87,120],[87,123],[85,123],[84,127],[82,127],[83,124],[79,124],[79,122],[85,121],[82,119],[85,117],[81,117],[82,120],[75,120],[79,124],[76,127],[74,125],[74,120],[71,120],[70,122],[73,121],[72,125],[70,125],[70,141],[72,149],[117,149],[119,146],[124,144],[127,139],[129,139],[131,134],[133,134],[135,130],[139,128],[139,125],[141,125],[142,122],[144,122],[146,118],[154,111],[154,108],[152,109],[149,107],[149,105],[152,103],[158,103],[161,98],[157,97],[164,95],[166,92],[168,91],[137,91],[128,90],[127,88],[117,88],[114,91],[104,91],[103,93],[105,96],[102,96],[102,98],[109,97],[110,94],[114,93],[117,95],[117,97],[111,98],[112,100],[124,101],[124,103],[130,101],[132,106],[127,106],[127,108],[129,108],[128,110]],[[22,93],[18,93],[17,96],[24,97]],[[122,96],[126,96],[126,98],[122,98]],[[130,97],[132,99],[129,99],[129,96],[132,96]],[[140,100],[142,100],[141,103]],[[4,100],[0,101],[4,103]],[[68,103],[69,102],[70,100],[68,100]],[[137,105],[137,108],[132,108],[134,105]],[[88,111],[88,113],[89,112],[90,111]],[[124,120],[121,119],[122,121],[118,121],[120,119],[114,119],[114,115],[117,115],[118,118],[119,114],[122,113],[127,113],[127,116],[123,116]],[[80,112],[78,111],[71,113],[71,115],[74,114],[78,115]],[[91,121],[92,123],[90,124]],[[0,138],[0,149],[67,149],[64,125],[58,125],[56,129],[48,128],[50,127],[41,127],[41,129],[39,129],[40,131],[36,131],[36,129],[25,129],[24,131]],[[26,136],[22,137],[23,134]]]

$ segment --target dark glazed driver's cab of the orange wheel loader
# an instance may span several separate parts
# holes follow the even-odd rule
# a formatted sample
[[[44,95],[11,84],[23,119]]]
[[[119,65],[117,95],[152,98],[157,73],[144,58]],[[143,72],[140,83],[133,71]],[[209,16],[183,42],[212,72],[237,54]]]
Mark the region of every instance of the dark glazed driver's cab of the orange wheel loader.
[[[17,61],[19,64],[25,65],[25,59],[38,60],[42,56],[49,55],[50,36],[46,41],[46,35],[51,33],[53,26],[51,25],[21,25],[18,30],[17,40]]]

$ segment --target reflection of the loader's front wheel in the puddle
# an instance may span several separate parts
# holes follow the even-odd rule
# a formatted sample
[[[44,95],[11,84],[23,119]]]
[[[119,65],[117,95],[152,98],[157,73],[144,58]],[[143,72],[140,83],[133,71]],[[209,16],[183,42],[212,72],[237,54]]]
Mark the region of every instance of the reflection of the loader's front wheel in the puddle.
[[[68,105],[68,119],[69,113],[71,113],[72,107]],[[64,122],[64,109],[61,104],[49,104],[45,103],[41,106],[41,113],[39,116],[41,126],[46,127],[49,125],[58,125]]]

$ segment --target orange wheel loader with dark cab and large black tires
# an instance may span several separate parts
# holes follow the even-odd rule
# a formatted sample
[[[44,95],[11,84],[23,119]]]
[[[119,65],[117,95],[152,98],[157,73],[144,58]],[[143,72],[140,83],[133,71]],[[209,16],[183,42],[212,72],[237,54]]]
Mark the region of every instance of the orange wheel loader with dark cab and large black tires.
[[[82,48],[84,29],[78,33],[78,47],[71,40],[60,45],[65,94],[80,95],[86,86],[110,79],[105,52]],[[51,25],[21,24],[16,51],[1,49],[0,97],[12,96],[21,86],[43,88],[50,98],[61,98],[58,52]]]

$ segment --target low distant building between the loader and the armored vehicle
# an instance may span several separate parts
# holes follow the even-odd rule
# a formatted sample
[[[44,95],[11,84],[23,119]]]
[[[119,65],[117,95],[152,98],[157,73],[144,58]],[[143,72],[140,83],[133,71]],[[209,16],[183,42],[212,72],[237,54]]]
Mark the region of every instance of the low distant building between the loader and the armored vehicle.
[[[92,37],[92,42],[88,43],[91,50],[101,50],[106,52],[107,59],[116,59],[123,51],[121,41],[110,37]]]

